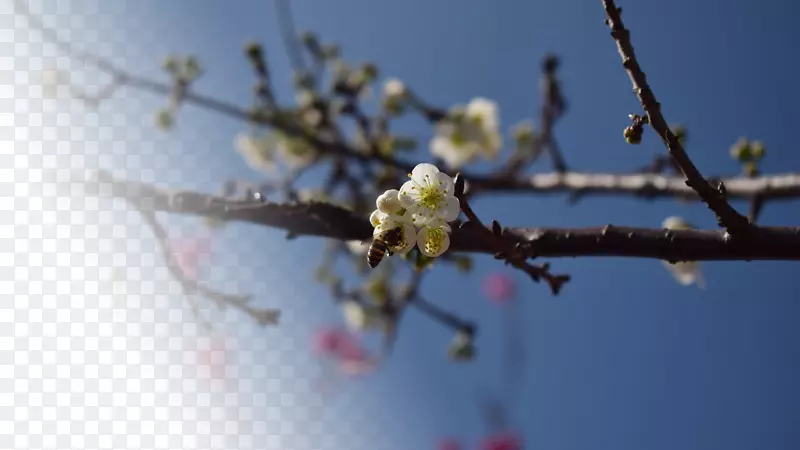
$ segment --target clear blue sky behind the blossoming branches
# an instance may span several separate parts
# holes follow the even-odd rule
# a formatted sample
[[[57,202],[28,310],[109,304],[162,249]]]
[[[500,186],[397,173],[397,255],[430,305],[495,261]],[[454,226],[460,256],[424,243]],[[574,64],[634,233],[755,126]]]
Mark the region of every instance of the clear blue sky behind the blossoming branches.
[[[43,3],[35,10],[56,11],[56,2]],[[800,5],[675,0],[667,7],[639,0],[621,6],[663,113],[687,126],[688,151],[701,171],[736,173],[728,149],[740,136],[766,143],[765,172],[800,170],[792,122],[800,66],[791,52],[800,44],[793,23]],[[197,90],[242,105],[250,102],[252,78],[241,49],[258,39],[266,46],[279,98],[292,100],[272,2],[94,1],[59,7],[64,14],[48,20],[75,43],[156,77],[167,53],[195,54],[207,69]],[[638,147],[622,139],[627,115],[638,112],[638,105],[599,0],[308,0],[293,8],[298,29],[340,44],[350,61],[377,63],[382,75],[403,79],[433,104],[494,99],[504,130],[536,118],[539,60],[555,52],[563,61],[570,105],[556,135],[572,168],[633,170],[664,152],[650,133]],[[91,76],[86,81],[102,84]],[[162,103],[126,90],[98,112],[75,108],[72,126],[105,131],[86,131],[95,134],[83,140],[73,136],[73,148],[99,152],[102,164],[113,161],[116,169],[176,187],[215,191],[231,177],[258,179],[233,151],[242,124],[187,106],[176,130],[162,135],[151,126]],[[398,128],[423,144],[430,136],[421,120]],[[426,157],[419,155],[420,161]],[[549,170],[547,162],[535,170]],[[658,227],[673,214],[714,226],[701,205],[669,200],[587,198],[570,207],[562,196],[509,195],[475,206],[483,217],[509,226]],[[800,224],[797,206],[768,205],[761,221]],[[475,293],[485,274],[506,270],[496,261],[479,258],[470,277],[436,268],[424,288],[427,298],[479,321],[475,363],[449,362],[444,350],[451,332],[412,312],[380,373],[329,401],[311,403],[313,393],[292,381],[315,367],[306,355],[314,327],[340,320],[306,270],[316,264],[321,242],[286,242],[283,233],[245,225],[225,230],[222,239],[225,252],[210,276],[234,290],[263,293],[259,300],[286,311],[275,329],[252,327],[234,314],[225,321],[240,352],[269,355],[253,358],[242,369],[245,378],[283,380],[280,390],[294,396],[289,406],[276,407],[272,395],[270,405],[254,407],[268,424],[295,424],[294,431],[267,425],[268,434],[284,438],[264,448],[334,448],[334,442],[349,448],[433,448],[442,435],[481,435],[472,392],[479,383],[499,387],[502,316]],[[573,276],[557,298],[507,272],[520,286],[526,328],[525,388],[513,423],[528,448],[790,449],[800,443],[797,263],[707,263],[705,291],[677,285],[658,261],[552,263]],[[303,408],[305,402],[314,406]],[[317,433],[310,447],[289,437],[302,435],[308,426],[303,424],[315,420],[327,425],[306,433]]]

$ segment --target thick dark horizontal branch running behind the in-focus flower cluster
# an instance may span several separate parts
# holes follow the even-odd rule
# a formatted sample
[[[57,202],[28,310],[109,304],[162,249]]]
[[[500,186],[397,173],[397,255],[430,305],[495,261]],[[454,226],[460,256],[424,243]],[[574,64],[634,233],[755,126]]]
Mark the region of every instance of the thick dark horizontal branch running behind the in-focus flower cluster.
[[[122,198],[143,211],[214,217],[286,230],[291,236],[364,240],[372,226],[362,217],[328,203],[272,203],[231,200],[197,192],[170,191],[114,178],[105,171],[76,173],[90,195]],[[450,251],[494,254],[477,227],[454,227]],[[510,245],[520,244],[529,258],[629,257],[666,261],[800,260],[800,228],[758,227],[746,240],[724,230],[669,231],[607,225],[594,228],[503,228]]]

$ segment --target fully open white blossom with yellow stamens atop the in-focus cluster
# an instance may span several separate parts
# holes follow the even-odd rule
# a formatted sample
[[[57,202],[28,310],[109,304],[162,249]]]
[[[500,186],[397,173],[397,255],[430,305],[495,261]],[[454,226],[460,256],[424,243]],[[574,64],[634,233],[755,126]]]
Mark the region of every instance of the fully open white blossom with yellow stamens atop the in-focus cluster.
[[[458,218],[460,205],[455,197],[453,179],[433,164],[422,163],[409,175],[400,188],[400,204],[418,226],[442,220],[452,222]]]

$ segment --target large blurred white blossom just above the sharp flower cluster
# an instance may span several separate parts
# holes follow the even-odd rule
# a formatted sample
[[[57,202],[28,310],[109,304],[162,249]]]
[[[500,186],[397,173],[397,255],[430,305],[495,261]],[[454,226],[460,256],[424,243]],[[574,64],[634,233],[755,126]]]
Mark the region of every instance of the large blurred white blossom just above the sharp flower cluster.
[[[497,104],[475,98],[466,108],[455,106],[449,117],[437,123],[430,150],[451,168],[459,168],[476,158],[494,159],[503,145],[499,131]]]

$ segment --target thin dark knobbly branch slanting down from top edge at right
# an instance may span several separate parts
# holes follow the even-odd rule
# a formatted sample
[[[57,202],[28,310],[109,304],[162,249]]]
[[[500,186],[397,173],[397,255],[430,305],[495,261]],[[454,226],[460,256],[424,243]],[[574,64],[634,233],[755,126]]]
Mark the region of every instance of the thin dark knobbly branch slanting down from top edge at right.
[[[686,176],[686,184],[697,191],[709,209],[717,216],[720,226],[725,227],[731,234],[749,230],[751,224],[746,217],[739,214],[725,198],[725,187],[714,188],[703,177],[692,163],[678,138],[670,130],[667,121],[661,115],[661,104],[656,100],[655,94],[647,84],[647,78],[639,67],[636,54],[631,44],[630,32],[622,23],[622,10],[617,7],[614,0],[603,0],[606,11],[606,23],[611,28],[611,36],[617,43],[617,49],[622,57],[622,65],[633,83],[633,91],[642,105],[650,126],[661,137],[669,150],[670,155]]]

